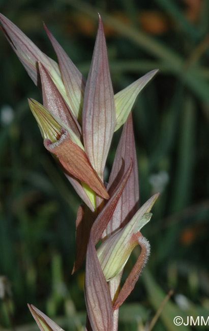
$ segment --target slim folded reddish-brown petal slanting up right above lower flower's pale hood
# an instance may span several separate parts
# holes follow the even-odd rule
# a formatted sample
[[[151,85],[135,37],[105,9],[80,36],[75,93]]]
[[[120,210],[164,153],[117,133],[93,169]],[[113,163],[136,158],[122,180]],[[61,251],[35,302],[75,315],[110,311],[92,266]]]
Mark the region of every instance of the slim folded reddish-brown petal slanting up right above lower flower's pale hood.
[[[114,193],[112,194],[111,199],[107,202],[106,206],[99,213],[99,215],[97,216],[97,218],[93,224],[92,237],[93,237],[95,245],[101,238],[105,228],[107,227],[107,225],[112,217],[112,214],[116,208],[117,202],[120,199],[120,197],[123,193],[123,190],[126,186],[126,183],[129,179],[129,176],[131,174],[132,167],[133,167],[133,162],[131,161],[131,164],[130,164],[127,172],[124,174],[120,183],[116,187]]]

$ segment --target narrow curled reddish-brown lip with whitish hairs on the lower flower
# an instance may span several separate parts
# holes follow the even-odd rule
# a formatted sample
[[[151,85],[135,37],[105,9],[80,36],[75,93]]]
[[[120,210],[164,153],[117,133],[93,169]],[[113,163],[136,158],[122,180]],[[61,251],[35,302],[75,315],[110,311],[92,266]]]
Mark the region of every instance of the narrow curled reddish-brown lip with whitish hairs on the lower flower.
[[[146,264],[147,258],[150,255],[150,243],[141,235],[140,232],[135,233],[132,236],[132,242],[134,241],[137,241],[137,243],[141,246],[141,254],[139,255],[138,260],[136,261],[133,269],[131,270],[120,293],[118,294],[113,305],[113,310],[118,309],[129,296],[131,291],[134,289],[141,270]]]

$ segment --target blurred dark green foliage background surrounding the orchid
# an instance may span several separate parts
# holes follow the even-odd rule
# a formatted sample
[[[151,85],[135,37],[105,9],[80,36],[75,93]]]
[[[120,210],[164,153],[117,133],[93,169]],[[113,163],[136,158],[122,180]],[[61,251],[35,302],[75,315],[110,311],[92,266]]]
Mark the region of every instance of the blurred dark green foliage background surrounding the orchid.
[[[152,254],[121,308],[120,330],[142,330],[171,288],[174,295],[154,330],[175,330],[175,315],[207,316],[208,1],[1,0],[0,8],[55,59],[44,20],[86,77],[99,11],[115,93],[145,72],[160,69],[133,110],[141,204],[156,191],[161,196],[152,222],[143,229]],[[0,302],[0,329],[37,329],[26,307],[29,302],[51,318],[61,316],[55,321],[67,331],[81,330],[84,268],[71,276],[80,201],[44,149],[29,111],[27,98],[41,102],[40,91],[3,34],[0,45],[0,275],[7,277],[13,293],[11,297],[7,284],[8,295]],[[117,132],[107,178],[119,137]],[[133,254],[125,277],[134,261]]]

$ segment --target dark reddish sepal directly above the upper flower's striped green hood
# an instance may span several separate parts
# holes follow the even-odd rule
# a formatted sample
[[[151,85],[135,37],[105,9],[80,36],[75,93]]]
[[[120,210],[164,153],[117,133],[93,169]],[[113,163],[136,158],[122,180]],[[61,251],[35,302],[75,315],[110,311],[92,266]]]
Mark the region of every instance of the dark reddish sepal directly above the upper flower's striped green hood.
[[[81,128],[71,109],[57,90],[53,80],[49,76],[44,66],[39,62],[39,72],[41,76],[43,104],[53,115],[61,119],[80,138]]]

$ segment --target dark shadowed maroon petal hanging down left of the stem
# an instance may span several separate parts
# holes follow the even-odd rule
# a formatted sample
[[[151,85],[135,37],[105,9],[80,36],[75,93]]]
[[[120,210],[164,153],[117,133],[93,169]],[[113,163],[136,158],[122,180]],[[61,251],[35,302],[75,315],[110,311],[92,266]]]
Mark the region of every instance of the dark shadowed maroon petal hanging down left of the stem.
[[[87,243],[95,217],[95,213],[89,210],[86,205],[79,207],[76,218],[76,259],[72,274],[80,268],[84,261]]]

